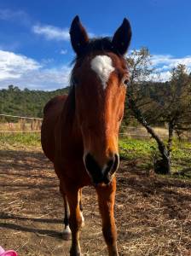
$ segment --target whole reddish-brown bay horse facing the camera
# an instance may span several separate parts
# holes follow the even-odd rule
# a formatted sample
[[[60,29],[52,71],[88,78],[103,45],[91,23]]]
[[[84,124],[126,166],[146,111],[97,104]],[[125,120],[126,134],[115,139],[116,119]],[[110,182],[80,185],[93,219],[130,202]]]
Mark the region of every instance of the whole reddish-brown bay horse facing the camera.
[[[129,83],[124,54],[130,44],[130,22],[124,18],[113,38],[90,39],[76,16],[70,37],[76,53],[70,91],[68,96],[51,99],[43,109],[43,152],[53,162],[60,180],[65,206],[63,236],[68,238],[72,233],[70,255],[82,255],[78,241],[84,223],[81,189],[92,185],[98,196],[108,255],[116,256],[115,172],[119,167],[119,126]]]

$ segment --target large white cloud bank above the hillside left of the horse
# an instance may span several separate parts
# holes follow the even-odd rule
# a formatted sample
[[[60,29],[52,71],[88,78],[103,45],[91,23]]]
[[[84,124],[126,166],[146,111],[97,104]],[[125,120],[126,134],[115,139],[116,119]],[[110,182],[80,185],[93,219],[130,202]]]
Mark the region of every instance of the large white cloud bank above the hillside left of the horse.
[[[0,89],[14,84],[21,89],[55,90],[69,84],[71,68],[47,68],[45,65],[44,60],[38,62],[25,55],[0,50]]]

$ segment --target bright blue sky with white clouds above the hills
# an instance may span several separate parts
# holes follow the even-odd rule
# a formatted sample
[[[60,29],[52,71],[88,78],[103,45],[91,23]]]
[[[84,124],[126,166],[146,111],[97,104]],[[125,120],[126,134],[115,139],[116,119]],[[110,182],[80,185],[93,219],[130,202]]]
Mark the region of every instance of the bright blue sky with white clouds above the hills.
[[[169,79],[177,63],[191,68],[190,9],[189,0],[1,0],[0,89],[67,86],[74,57],[68,30],[75,15],[93,36],[112,36],[127,17],[130,49],[147,46],[161,79]]]

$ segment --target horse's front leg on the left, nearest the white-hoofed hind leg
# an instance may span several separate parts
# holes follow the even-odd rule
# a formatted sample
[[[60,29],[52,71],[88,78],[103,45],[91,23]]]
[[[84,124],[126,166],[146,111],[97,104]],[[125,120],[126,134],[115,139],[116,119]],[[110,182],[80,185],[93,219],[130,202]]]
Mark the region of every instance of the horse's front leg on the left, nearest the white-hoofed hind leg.
[[[69,226],[72,232],[71,256],[80,256],[79,230],[82,225],[82,218],[79,209],[79,189],[70,187],[67,189],[67,201],[70,208]]]

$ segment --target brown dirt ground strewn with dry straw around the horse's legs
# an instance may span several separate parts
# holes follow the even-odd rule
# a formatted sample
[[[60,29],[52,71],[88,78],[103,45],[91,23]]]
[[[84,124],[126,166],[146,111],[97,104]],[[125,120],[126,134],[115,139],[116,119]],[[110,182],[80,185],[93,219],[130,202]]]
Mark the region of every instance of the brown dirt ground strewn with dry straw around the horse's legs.
[[[115,216],[119,255],[191,255],[191,182],[148,176],[121,161]],[[92,188],[83,189],[83,255],[107,255]],[[69,255],[63,202],[42,152],[0,150],[0,245],[20,256]]]

